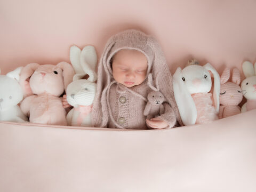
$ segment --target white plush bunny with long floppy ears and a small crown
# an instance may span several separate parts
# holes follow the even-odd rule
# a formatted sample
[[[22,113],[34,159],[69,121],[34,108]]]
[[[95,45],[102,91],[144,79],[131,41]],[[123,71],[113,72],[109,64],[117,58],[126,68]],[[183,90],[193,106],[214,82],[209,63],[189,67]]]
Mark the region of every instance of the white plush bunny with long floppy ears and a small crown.
[[[198,61],[192,60],[189,66],[183,70],[178,68],[173,75],[174,98],[185,125],[207,123],[218,119],[220,76],[210,63],[204,66],[198,64]],[[214,77],[215,107],[212,106],[212,94],[209,93],[212,87],[209,71]]]

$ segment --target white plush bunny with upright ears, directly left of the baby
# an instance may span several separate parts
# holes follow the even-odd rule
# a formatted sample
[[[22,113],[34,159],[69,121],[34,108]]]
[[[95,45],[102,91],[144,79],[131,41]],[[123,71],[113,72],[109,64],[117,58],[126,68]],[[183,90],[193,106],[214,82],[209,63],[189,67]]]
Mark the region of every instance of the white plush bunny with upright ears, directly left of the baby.
[[[71,46],[70,61],[76,75],[67,87],[67,101],[74,107],[67,115],[67,122],[71,126],[91,126],[92,103],[97,87],[97,53],[90,45],[82,51],[77,46]],[[89,78],[82,79],[86,75]]]

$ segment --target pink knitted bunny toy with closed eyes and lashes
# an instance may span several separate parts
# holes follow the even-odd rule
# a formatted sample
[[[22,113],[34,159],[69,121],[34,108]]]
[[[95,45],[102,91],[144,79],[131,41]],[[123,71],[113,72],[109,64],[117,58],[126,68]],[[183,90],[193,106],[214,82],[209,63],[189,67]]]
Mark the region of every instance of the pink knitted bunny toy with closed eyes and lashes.
[[[239,86],[241,77],[237,68],[233,69],[232,82],[227,82],[230,69],[226,68],[220,77],[220,111],[219,118],[225,118],[241,113],[238,104],[243,99],[242,89]]]

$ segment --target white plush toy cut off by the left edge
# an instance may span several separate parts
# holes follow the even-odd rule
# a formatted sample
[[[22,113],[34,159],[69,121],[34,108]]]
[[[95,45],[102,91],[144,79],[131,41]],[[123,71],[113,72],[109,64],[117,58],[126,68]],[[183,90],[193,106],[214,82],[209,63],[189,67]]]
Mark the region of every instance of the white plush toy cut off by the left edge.
[[[22,88],[19,84],[22,67],[0,75],[0,121],[26,122],[27,117],[21,112],[18,103],[23,99]]]

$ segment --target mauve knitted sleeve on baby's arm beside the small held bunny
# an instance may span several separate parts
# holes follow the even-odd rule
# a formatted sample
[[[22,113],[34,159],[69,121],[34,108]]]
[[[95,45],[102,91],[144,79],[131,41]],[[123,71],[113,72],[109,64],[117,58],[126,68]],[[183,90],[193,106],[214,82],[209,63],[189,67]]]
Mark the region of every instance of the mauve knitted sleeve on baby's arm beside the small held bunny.
[[[174,113],[174,110],[172,107],[169,105],[169,103],[164,102],[164,114],[159,116],[163,121],[165,121],[169,126],[167,128],[172,128],[176,124],[176,115]]]

